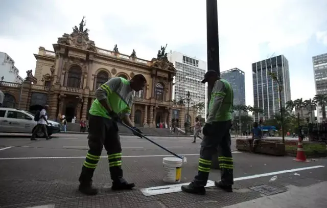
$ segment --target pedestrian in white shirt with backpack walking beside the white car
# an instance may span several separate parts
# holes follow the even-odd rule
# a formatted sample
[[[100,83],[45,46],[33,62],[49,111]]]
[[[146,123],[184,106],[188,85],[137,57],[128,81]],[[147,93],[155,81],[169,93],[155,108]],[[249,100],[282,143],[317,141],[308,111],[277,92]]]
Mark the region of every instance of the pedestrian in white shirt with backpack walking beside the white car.
[[[41,111],[38,111],[35,114],[34,121],[37,121],[37,125],[34,128],[34,131],[32,133],[31,140],[36,140],[36,134],[39,131],[42,131],[45,135],[46,140],[50,140],[50,137],[48,135],[48,130],[46,129],[46,125],[49,125],[48,122],[48,114],[46,111],[49,109],[49,105],[45,105]]]

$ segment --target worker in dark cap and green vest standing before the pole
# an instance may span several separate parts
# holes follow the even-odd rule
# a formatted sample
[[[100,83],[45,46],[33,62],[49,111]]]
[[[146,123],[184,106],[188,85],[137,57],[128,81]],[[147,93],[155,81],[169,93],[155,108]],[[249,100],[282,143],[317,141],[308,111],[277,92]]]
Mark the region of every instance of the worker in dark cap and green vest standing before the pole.
[[[209,70],[205,73],[202,83],[208,82],[213,86],[209,102],[209,113],[203,127],[203,141],[201,142],[198,174],[189,185],[182,186],[184,192],[205,194],[213,154],[218,150],[218,160],[221,171],[221,180],[215,181],[215,186],[227,192],[232,192],[233,159],[231,155],[231,127],[233,90],[231,85],[219,75]]]

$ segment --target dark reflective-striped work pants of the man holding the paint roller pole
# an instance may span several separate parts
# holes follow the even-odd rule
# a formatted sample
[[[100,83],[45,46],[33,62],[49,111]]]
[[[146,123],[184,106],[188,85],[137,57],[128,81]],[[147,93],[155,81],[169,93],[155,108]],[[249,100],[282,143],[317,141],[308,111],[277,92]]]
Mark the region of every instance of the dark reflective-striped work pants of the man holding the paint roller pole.
[[[92,181],[93,173],[100,160],[103,146],[108,154],[109,171],[114,182],[125,182],[122,170],[122,147],[117,124],[107,118],[90,115],[88,147],[82,172],[79,177],[81,183]]]

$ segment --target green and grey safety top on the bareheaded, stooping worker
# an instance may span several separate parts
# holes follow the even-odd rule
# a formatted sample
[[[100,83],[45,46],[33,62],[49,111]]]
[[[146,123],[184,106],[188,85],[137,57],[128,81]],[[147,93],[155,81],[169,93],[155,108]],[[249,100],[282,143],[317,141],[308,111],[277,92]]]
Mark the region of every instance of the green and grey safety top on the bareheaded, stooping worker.
[[[104,91],[107,95],[107,102],[115,113],[131,113],[133,104],[132,90],[129,80],[122,77],[115,77],[101,85],[98,90]],[[107,110],[96,99],[89,110],[91,115],[98,115],[110,119]]]

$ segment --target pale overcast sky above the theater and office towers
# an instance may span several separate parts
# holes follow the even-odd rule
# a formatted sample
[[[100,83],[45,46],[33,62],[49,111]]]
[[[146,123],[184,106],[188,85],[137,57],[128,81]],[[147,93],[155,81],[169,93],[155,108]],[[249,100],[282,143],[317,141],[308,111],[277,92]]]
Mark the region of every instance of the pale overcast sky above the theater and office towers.
[[[0,51],[15,61],[21,77],[35,70],[34,53],[71,33],[86,16],[97,47],[140,58],[160,45],[206,61],[204,0],[62,1],[2,0]],[[315,95],[312,56],[327,53],[326,0],[218,0],[220,70],[245,72],[246,104],[253,105],[251,63],[284,54],[292,99]]]

